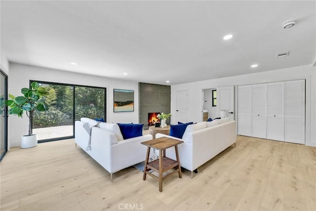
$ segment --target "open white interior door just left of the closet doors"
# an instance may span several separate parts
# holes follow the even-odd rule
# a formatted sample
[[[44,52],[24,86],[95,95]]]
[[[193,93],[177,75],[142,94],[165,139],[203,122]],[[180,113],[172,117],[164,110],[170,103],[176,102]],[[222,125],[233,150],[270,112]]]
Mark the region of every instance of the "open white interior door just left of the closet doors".
[[[228,111],[230,121],[235,120],[235,92],[234,86],[223,86],[216,88],[217,92],[217,114],[220,111]]]

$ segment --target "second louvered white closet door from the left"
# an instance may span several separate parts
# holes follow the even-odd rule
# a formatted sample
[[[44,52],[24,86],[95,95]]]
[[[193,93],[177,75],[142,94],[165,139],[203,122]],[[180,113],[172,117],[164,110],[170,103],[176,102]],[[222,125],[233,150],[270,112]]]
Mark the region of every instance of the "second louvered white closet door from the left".
[[[267,138],[267,85],[252,85],[252,136],[257,138]]]

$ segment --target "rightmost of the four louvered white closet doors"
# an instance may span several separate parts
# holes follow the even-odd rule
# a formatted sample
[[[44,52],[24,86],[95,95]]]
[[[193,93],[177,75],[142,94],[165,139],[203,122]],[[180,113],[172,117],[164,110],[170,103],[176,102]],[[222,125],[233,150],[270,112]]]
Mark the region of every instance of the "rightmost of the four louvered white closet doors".
[[[286,81],[284,141],[305,144],[305,80]]]

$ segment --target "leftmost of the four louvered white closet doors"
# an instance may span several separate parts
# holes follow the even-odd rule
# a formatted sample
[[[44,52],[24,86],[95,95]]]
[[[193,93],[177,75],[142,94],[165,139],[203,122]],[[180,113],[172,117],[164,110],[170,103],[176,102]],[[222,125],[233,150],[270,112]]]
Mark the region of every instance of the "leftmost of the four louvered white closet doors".
[[[238,86],[238,135],[251,136],[251,86]]]

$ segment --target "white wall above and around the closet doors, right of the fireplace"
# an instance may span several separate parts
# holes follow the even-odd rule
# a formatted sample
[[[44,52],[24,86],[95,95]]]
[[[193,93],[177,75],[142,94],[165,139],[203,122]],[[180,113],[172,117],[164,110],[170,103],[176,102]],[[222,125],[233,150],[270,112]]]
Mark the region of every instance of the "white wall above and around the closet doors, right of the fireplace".
[[[316,146],[316,67],[300,66],[281,70],[238,75],[171,86],[171,113],[176,112],[176,92],[188,90],[188,122],[201,119],[202,90],[220,86],[246,85],[293,79],[306,79],[306,145]],[[235,88],[235,119],[237,119]],[[171,124],[176,124],[171,118]]]

